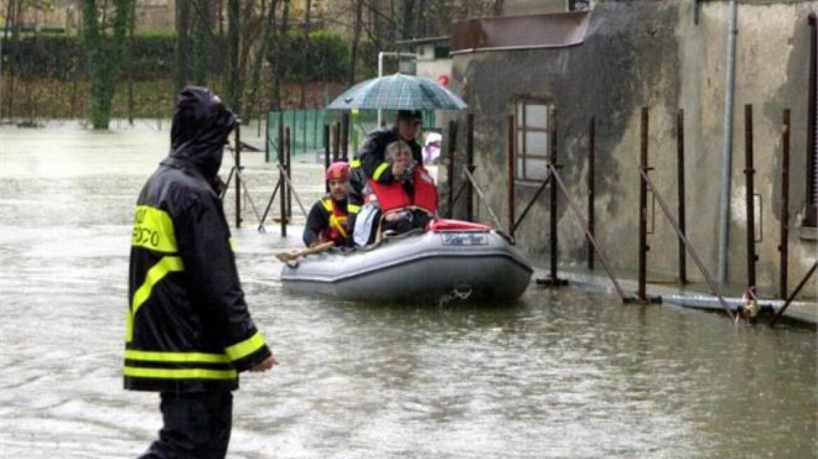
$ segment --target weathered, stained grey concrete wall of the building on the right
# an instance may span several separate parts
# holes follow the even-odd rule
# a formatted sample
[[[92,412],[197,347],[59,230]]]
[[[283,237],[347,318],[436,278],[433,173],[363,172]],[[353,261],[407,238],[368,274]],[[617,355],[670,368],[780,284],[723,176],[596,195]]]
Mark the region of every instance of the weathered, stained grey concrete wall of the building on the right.
[[[640,108],[649,106],[650,172],[676,209],[676,113],[685,109],[685,182],[691,242],[712,274],[717,272],[719,184],[726,70],[727,2],[598,2],[585,42],[578,47],[489,51],[454,57],[452,87],[475,117],[476,177],[488,203],[508,228],[506,212],[506,118],[518,96],[551,101],[559,116],[562,176],[574,202],[587,202],[587,124],[596,117],[596,228],[610,261],[622,274],[637,268]],[[753,104],[756,192],[763,196],[764,239],[757,246],[762,293],[778,291],[780,225],[780,130],[782,111],[792,109],[790,176],[790,270],[794,287],[816,258],[814,240],[799,238],[796,215],[806,194],[807,15],[818,2],[740,3],[736,61],[734,150],[730,220],[732,283],[746,282],[744,212],[744,105]],[[465,116],[456,161],[464,160]],[[445,174],[440,176],[445,182]],[[447,185],[443,186],[446,189]],[[459,187],[456,180],[455,186]],[[516,187],[518,213],[533,197]],[[584,265],[582,230],[560,197],[560,263]],[[460,209],[462,210],[462,209]],[[677,238],[657,205],[649,236],[649,279],[675,279]],[[462,215],[462,214],[461,214]],[[488,221],[488,212],[480,212]],[[758,217],[757,217],[758,220]],[[545,194],[517,232],[519,245],[545,263],[548,247]],[[814,237],[814,230],[808,231]],[[688,275],[701,279],[688,257]],[[815,295],[814,283],[809,295]]]

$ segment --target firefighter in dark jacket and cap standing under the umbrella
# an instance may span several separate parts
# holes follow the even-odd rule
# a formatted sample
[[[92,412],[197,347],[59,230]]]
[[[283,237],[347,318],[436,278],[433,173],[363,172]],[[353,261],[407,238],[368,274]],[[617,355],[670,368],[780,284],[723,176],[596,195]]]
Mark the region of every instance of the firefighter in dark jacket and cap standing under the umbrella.
[[[358,150],[352,163],[349,163],[349,217],[347,227],[352,233],[355,217],[363,205],[363,189],[368,180],[389,185],[392,183],[391,160],[385,158],[386,146],[395,140],[403,140],[411,148],[412,158],[423,165],[423,153],[416,141],[418,131],[423,125],[423,114],[420,110],[398,110],[395,123],[391,129],[371,132]]]

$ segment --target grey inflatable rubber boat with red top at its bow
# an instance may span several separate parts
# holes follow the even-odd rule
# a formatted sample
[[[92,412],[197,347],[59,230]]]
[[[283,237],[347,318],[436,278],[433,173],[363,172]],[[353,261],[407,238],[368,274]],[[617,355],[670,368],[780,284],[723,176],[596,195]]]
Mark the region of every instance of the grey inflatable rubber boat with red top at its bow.
[[[372,248],[334,248],[289,261],[281,283],[290,292],[344,301],[495,301],[522,295],[532,273],[488,226],[435,220],[425,232],[384,238]]]

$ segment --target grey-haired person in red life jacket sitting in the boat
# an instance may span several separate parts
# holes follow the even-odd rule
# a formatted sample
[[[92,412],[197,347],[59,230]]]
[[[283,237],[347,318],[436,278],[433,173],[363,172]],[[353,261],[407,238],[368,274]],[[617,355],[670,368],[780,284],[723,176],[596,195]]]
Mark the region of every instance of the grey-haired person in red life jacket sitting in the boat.
[[[381,230],[394,234],[424,229],[438,212],[438,188],[429,172],[412,158],[411,147],[396,140],[386,147],[391,162],[389,183],[369,180],[383,212]]]

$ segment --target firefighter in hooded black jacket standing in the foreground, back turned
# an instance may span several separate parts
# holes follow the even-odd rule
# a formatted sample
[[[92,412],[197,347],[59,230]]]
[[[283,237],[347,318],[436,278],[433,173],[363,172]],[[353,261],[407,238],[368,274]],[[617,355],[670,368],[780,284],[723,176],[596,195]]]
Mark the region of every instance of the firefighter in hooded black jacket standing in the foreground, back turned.
[[[169,157],[137,200],[124,384],[160,392],[164,420],[142,457],[224,457],[238,373],[277,363],[250,319],[214,185],[236,125],[213,92],[185,88]]]

